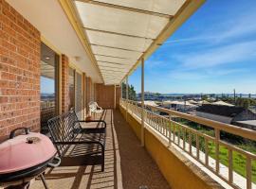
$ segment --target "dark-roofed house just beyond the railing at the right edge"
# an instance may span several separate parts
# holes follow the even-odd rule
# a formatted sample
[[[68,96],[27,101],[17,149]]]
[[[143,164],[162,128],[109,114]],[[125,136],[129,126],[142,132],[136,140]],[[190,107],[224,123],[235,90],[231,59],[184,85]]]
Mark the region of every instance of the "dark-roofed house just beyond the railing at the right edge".
[[[214,121],[256,130],[256,114],[242,107],[204,104],[196,109],[195,114]]]

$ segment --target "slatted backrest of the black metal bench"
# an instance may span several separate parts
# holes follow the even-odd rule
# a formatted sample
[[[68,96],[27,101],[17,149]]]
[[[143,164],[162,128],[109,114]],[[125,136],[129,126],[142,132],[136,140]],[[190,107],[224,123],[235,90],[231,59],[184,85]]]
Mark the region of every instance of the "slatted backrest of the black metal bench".
[[[48,129],[53,143],[72,142],[81,131],[82,127],[78,121],[76,112],[66,112],[48,120]],[[60,156],[63,156],[68,145],[56,145]]]

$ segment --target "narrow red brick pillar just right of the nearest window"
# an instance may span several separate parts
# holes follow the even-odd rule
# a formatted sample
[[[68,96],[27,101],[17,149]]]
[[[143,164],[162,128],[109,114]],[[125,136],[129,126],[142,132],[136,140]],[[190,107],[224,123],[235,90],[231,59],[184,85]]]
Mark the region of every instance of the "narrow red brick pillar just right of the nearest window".
[[[68,112],[69,102],[68,58],[62,55],[62,112]]]

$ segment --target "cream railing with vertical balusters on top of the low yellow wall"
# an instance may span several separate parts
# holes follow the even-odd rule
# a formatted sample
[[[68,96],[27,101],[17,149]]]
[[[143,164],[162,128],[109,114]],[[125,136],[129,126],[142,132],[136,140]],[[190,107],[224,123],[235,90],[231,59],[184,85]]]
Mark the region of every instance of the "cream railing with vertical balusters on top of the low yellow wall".
[[[140,103],[121,99],[120,106],[131,115],[141,119],[142,108]],[[164,112],[167,116],[162,116],[159,112]],[[256,171],[256,155],[238,146],[231,145],[220,137],[220,132],[224,131],[255,142],[256,131],[149,105],[144,106],[143,116],[145,128],[154,129],[155,132],[169,141],[169,146],[174,145],[186,152],[193,160],[203,164],[230,186],[247,189],[256,187],[252,182],[252,171]],[[177,117],[206,126],[212,130],[213,134],[208,135],[174,121],[174,118]],[[222,159],[225,151],[228,156],[227,163],[224,163]],[[239,156],[237,156],[238,154]],[[239,166],[241,169],[245,169],[245,174],[235,170],[234,156],[241,158]]]

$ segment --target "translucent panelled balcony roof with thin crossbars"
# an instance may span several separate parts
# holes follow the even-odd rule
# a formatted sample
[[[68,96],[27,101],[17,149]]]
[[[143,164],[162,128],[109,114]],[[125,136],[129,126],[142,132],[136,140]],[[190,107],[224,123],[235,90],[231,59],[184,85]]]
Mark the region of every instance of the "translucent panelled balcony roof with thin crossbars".
[[[191,3],[197,4],[193,5],[195,11],[202,2],[74,0],[73,5],[104,83],[118,84],[148,51],[162,43],[161,35],[167,38],[165,30],[175,24],[182,11]],[[168,37],[171,34],[168,32]]]

